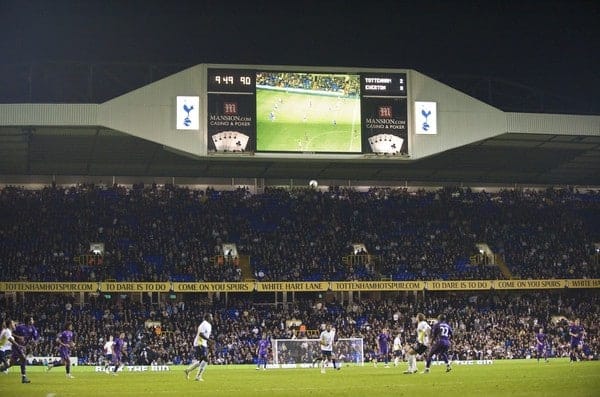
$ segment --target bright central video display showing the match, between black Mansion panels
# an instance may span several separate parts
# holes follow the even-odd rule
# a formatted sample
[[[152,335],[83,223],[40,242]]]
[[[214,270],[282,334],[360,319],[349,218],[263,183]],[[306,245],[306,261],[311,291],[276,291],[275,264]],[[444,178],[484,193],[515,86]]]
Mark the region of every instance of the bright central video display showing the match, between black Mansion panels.
[[[256,150],[360,153],[360,77],[257,72]]]

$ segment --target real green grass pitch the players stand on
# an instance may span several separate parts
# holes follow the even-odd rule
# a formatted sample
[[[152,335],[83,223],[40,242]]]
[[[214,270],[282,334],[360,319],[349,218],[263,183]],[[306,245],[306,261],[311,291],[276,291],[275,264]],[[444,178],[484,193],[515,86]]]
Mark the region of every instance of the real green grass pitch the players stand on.
[[[419,362],[419,369],[423,363]],[[183,366],[168,372],[120,372],[118,376],[74,367],[75,379],[66,379],[64,368],[44,372],[29,367],[30,384],[21,384],[18,368],[0,375],[2,396],[598,396],[600,362],[570,364],[535,360],[494,361],[491,365],[432,366],[431,373],[403,375],[406,364],[328,369],[267,369],[254,366],[208,366],[204,382],[186,380]]]

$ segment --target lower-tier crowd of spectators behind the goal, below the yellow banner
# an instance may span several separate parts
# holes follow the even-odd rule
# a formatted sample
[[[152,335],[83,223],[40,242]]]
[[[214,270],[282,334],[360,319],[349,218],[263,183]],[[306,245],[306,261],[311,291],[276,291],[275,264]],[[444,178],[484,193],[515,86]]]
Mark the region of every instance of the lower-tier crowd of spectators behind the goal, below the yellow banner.
[[[3,320],[34,315],[41,339],[31,346],[30,354],[55,355],[56,334],[71,321],[76,335],[73,354],[79,364],[91,365],[103,363],[106,338],[121,331],[126,333],[131,364],[187,364],[193,357],[197,326],[207,312],[213,314],[212,364],[253,363],[263,333],[271,339],[314,338],[325,323],[336,327],[339,338],[363,338],[368,360],[383,328],[391,330],[392,338],[400,334],[405,343],[413,343],[417,312],[431,320],[446,314],[454,330],[454,359],[531,357],[539,327],[549,336],[550,356],[566,357],[568,322],[575,318],[585,329],[584,343],[592,358],[597,359],[600,351],[600,296],[595,290],[407,293],[343,304],[325,297],[288,305],[254,303],[245,295],[229,302],[185,296],[161,304],[99,296],[79,304],[59,294],[27,294],[18,303],[3,303]],[[299,324],[307,331],[299,332]],[[147,353],[142,355],[143,351]]]

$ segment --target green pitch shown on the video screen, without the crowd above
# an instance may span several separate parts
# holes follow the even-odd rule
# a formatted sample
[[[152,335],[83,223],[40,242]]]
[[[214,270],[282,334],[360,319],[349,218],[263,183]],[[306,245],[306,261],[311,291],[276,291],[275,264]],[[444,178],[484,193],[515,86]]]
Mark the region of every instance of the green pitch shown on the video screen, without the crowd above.
[[[258,151],[360,152],[360,100],[256,90]]]

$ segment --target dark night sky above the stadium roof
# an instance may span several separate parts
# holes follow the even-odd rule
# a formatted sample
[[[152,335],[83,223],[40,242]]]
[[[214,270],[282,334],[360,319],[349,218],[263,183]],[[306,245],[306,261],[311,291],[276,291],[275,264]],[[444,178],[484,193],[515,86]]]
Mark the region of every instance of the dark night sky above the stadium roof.
[[[0,0],[0,63],[409,68],[599,100],[598,1],[354,2]]]

